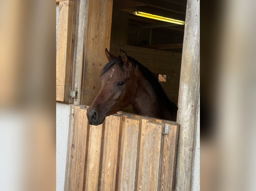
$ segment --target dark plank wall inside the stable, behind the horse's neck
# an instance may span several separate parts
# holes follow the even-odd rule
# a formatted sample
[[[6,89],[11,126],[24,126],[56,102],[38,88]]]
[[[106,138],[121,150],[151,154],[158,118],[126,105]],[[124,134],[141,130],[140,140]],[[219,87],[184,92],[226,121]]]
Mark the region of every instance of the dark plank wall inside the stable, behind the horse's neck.
[[[168,98],[177,104],[181,53],[173,53],[128,45],[110,45],[110,52],[116,56],[120,55],[120,49],[124,50],[128,56],[138,60],[154,74],[167,75],[166,82],[160,82],[160,84],[162,85]],[[123,111],[133,112],[130,106],[123,109]]]

